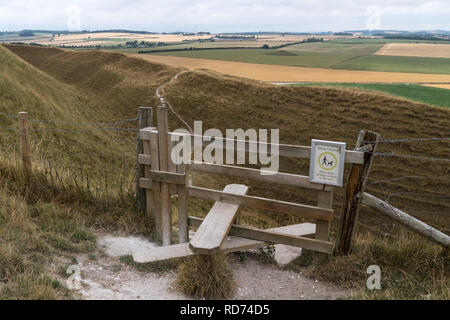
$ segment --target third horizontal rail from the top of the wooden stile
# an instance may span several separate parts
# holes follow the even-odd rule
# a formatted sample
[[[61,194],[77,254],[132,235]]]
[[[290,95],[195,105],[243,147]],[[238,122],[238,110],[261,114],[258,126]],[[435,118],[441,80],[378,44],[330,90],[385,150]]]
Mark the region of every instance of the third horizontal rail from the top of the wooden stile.
[[[254,196],[229,194],[223,191],[193,186],[188,187],[188,192],[189,196],[200,199],[223,201],[251,208],[295,214],[304,218],[321,219],[326,221],[330,221],[333,218],[333,210],[331,209],[324,209],[304,204],[272,200]]]

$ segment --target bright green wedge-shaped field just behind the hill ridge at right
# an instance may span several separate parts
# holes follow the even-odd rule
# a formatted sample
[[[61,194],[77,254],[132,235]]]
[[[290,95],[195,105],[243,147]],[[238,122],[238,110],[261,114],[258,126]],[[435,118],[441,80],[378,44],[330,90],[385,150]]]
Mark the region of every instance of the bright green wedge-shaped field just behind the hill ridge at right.
[[[430,104],[437,107],[450,108],[450,90],[424,87],[413,84],[361,84],[361,83],[308,83],[294,86],[314,87],[346,87],[363,90],[381,91],[393,96]]]

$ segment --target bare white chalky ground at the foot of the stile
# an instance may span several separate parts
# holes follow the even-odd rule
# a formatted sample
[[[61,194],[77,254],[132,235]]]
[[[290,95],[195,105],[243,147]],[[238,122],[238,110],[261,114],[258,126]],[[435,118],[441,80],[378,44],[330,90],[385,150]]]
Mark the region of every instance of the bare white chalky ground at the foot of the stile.
[[[133,250],[154,246],[143,237],[97,234],[96,253],[76,257],[81,271],[76,296],[88,300],[191,299],[174,288],[176,269],[139,271],[121,262],[120,257],[131,255]],[[276,249],[275,258],[278,263],[286,264],[298,254],[296,248],[281,246]],[[306,278],[301,273],[282,270],[276,264],[262,263],[251,255],[246,255],[243,261],[231,258],[229,267],[237,284],[232,299],[338,299],[350,294],[348,290]]]

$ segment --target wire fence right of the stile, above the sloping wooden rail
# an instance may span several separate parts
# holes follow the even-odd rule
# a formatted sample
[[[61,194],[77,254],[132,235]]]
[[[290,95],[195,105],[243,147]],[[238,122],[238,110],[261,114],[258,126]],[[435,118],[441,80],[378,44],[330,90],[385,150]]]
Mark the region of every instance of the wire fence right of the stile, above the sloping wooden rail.
[[[375,164],[377,157],[383,158],[388,163],[392,161],[397,164],[398,173],[410,171],[413,174],[398,174],[395,176],[396,172],[392,169],[388,172],[377,172],[378,179],[369,178],[367,192],[438,229],[449,230],[450,171],[446,166],[450,159],[445,156],[442,157],[442,155],[447,155],[450,152],[450,145],[447,143],[450,142],[450,137],[382,139],[378,142],[379,147],[392,148],[393,150],[391,152],[374,152]],[[436,148],[434,147],[425,149],[423,145],[419,145],[421,143],[440,144],[440,151],[435,151]],[[402,152],[402,150],[407,151]],[[423,154],[423,150],[430,150],[436,156]],[[414,151],[416,154],[411,154],[408,151]],[[414,168],[421,168],[422,166],[425,166],[430,174],[414,175]],[[385,228],[383,224],[377,224],[376,226],[360,224],[382,236],[392,236],[395,230],[395,228]],[[397,225],[395,222],[389,224]]]

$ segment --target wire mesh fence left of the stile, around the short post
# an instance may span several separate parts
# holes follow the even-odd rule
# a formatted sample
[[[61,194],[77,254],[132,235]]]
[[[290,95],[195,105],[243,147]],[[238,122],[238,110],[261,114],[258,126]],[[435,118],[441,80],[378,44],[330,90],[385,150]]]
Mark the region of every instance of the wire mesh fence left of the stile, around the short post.
[[[3,123],[2,123],[3,118]],[[0,146],[4,151],[19,156],[18,115],[0,112],[0,132],[3,138]],[[5,121],[6,120],[6,121]],[[9,121],[8,121],[9,120]],[[134,192],[136,184],[136,134],[138,118],[125,118],[109,122],[77,122],[56,119],[27,119],[29,141],[33,147],[32,163],[36,171],[45,176],[50,185],[73,185],[84,192],[114,200]],[[8,126],[5,124],[8,123]],[[37,127],[35,127],[35,125]],[[133,127],[130,127],[133,125]],[[124,135],[109,135],[109,139],[99,141],[114,143],[114,149],[86,146],[73,141],[73,134],[117,132]],[[45,133],[48,133],[46,135]],[[69,133],[70,135],[67,135]],[[71,140],[68,140],[68,138]],[[91,139],[92,140],[92,139]],[[81,140],[80,140],[81,141]],[[93,140],[95,142],[95,140]],[[70,144],[70,146],[67,146]],[[66,145],[66,146],[65,146]],[[88,152],[88,154],[84,154]],[[64,159],[64,160],[63,160]]]

